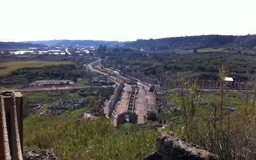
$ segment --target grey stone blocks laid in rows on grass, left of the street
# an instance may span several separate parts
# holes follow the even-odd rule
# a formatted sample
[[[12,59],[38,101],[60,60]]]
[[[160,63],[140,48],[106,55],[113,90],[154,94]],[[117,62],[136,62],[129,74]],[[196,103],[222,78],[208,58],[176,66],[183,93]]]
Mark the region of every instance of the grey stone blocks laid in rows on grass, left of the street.
[[[73,109],[78,109],[82,108],[84,106],[84,100],[82,99],[63,99],[59,103],[56,103],[52,106],[50,106],[50,110],[45,110],[41,113],[41,115],[44,114],[61,114],[63,111],[73,108]]]

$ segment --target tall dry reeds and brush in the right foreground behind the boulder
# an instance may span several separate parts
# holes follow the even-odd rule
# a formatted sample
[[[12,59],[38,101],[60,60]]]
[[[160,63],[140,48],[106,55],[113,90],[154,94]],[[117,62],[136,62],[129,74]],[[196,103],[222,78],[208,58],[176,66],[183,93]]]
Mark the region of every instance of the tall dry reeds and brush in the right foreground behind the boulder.
[[[184,126],[178,128],[177,132],[184,135],[188,141],[216,153],[220,159],[255,159],[253,144],[256,142],[256,93],[249,94],[248,91],[243,105],[237,105],[235,110],[231,110],[225,106],[225,99],[231,95],[225,92],[227,71],[223,66],[219,69],[218,76],[218,98],[210,103],[211,115],[203,119],[198,116],[199,107],[195,102],[199,96],[196,83],[180,80],[180,106]],[[234,113],[231,113],[232,111]]]

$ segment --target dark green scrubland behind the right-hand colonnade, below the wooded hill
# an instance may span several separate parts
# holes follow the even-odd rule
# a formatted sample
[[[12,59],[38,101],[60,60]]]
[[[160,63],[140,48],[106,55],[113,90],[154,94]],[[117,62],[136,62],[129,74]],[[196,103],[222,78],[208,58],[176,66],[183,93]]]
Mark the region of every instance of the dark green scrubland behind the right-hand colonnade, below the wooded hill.
[[[202,51],[207,51],[204,49]],[[132,55],[113,55],[108,58],[106,64],[110,67],[121,66],[129,72],[143,76],[165,77],[169,73],[170,78],[186,77],[188,79],[215,80],[218,68],[225,65],[229,69],[229,76],[235,81],[247,81],[255,72],[256,54],[235,52],[209,52],[209,53],[152,53]]]

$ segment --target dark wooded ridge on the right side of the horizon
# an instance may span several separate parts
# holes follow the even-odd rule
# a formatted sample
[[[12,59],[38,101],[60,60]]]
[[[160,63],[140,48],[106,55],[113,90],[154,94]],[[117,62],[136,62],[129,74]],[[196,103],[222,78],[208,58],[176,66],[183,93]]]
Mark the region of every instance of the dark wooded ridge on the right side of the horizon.
[[[256,35],[247,36],[223,36],[223,35],[202,35],[171,37],[161,39],[138,39],[137,41],[126,43],[125,46],[144,50],[171,50],[171,49],[204,49],[208,47],[227,46],[256,46]]]

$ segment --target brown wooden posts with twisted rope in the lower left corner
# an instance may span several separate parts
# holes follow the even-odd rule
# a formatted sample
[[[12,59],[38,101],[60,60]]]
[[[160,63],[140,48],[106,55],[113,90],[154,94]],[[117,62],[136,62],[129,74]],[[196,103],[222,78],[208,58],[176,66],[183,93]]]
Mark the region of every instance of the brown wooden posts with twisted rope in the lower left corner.
[[[13,94],[14,95],[13,95]],[[23,152],[23,126],[22,126],[22,94],[20,92],[2,92],[0,93],[0,159],[8,159],[6,155],[10,155],[11,159],[22,159]],[[14,108],[14,99],[15,105]],[[4,106],[4,107],[3,107]],[[4,117],[4,118],[3,118]],[[4,122],[5,121],[5,122]],[[15,126],[15,123],[18,126]],[[6,126],[5,126],[6,125]],[[7,130],[6,128],[7,127]],[[5,128],[5,129],[4,129]],[[17,130],[18,129],[18,130]],[[4,134],[7,137],[4,138]],[[18,132],[17,132],[18,131]],[[18,134],[19,133],[19,134]],[[18,137],[16,135],[19,135]],[[6,141],[7,138],[7,141]],[[6,144],[8,143],[8,145]],[[6,153],[6,146],[9,146],[9,153]],[[21,152],[21,153],[20,153]],[[21,155],[20,155],[21,154]]]

